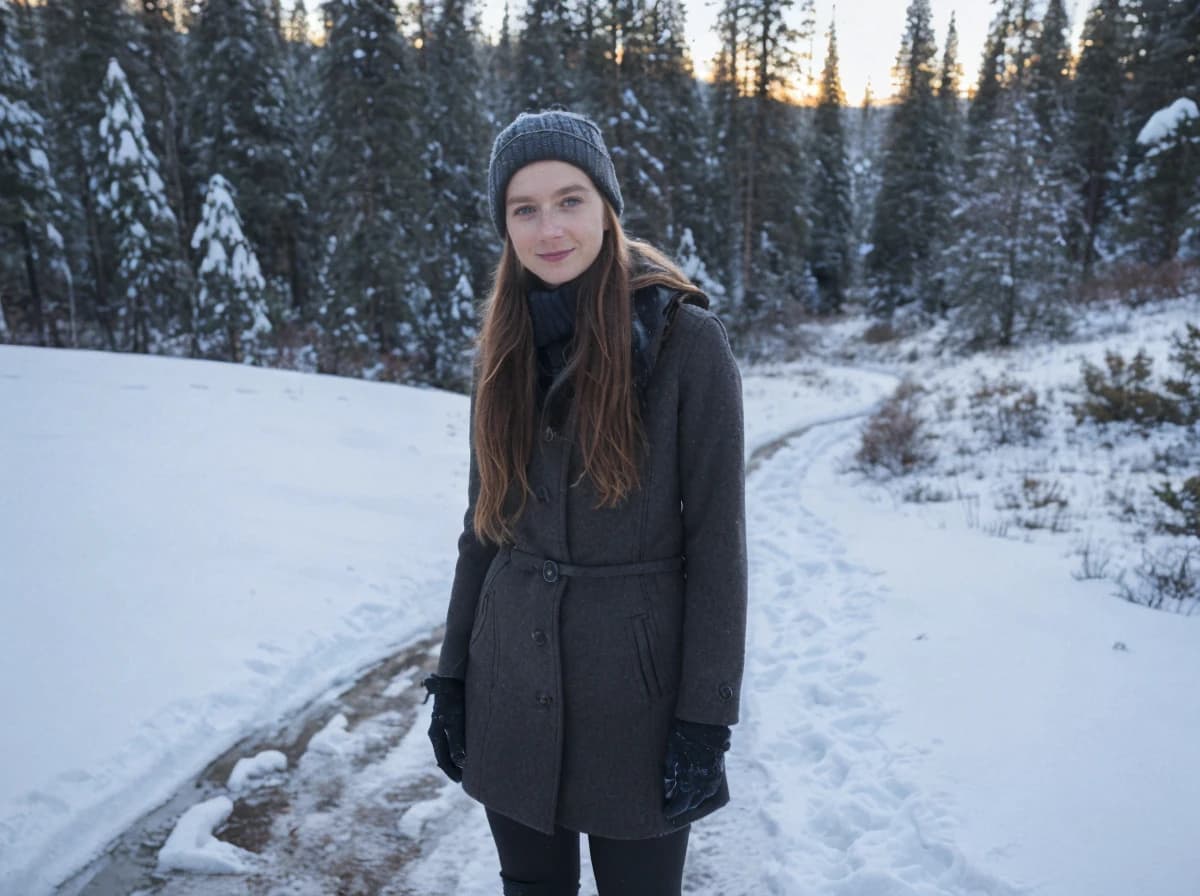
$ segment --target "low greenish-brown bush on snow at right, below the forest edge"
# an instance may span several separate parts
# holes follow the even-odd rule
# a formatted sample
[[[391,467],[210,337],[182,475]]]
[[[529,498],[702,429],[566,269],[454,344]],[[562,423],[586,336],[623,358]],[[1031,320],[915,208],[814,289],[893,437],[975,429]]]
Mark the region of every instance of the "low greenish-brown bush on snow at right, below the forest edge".
[[[1086,398],[1072,407],[1075,421],[1133,422],[1142,427],[1181,423],[1178,402],[1151,387],[1153,359],[1139,350],[1128,361],[1116,351],[1104,355],[1104,368],[1085,361],[1081,373]]]

